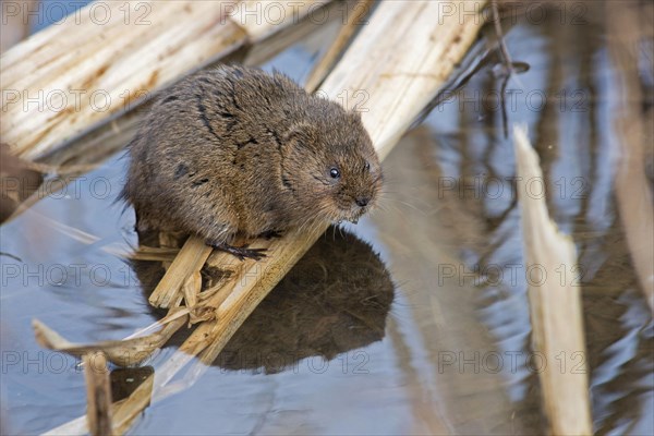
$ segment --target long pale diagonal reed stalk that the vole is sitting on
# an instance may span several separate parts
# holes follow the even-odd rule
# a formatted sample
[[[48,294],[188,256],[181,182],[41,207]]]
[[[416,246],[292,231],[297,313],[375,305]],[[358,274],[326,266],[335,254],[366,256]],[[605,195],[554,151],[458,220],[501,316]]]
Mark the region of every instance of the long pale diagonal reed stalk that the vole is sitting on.
[[[322,90],[329,98],[338,99],[346,93],[344,101],[341,100],[343,106],[349,109],[356,106],[362,112],[363,122],[382,159],[464,57],[483,24],[481,11],[484,4],[485,1],[471,1],[465,4],[465,13],[461,10],[446,16],[443,11],[451,8],[448,1],[383,2],[323,84]],[[476,8],[480,14],[470,14],[472,8]],[[217,306],[215,316],[201,323],[180,350],[121,403],[120,411],[114,414],[114,425],[121,428],[129,425],[149,403],[150,389],[153,401],[162,398],[166,388],[170,387],[169,382],[193,356],[199,355],[199,362],[189,371],[196,379],[326,227],[303,233],[290,231],[281,239],[270,241],[257,240],[257,247],[267,249],[267,257],[258,262],[245,259],[234,264],[233,256],[217,254],[214,258],[217,264],[233,267],[223,284],[231,292]],[[202,257],[197,252],[204,249],[199,249],[195,241],[191,239],[186,244],[197,247],[182,250],[184,257]],[[186,282],[197,266],[193,262],[190,264],[194,266],[191,270],[169,268],[162,280]],[[179,277],[172,279],[172,275]],[[182,289],[177,289],[168,301],[177,302],[182,294]],[[84,421],[75,420],[50,433],[84,431]]]

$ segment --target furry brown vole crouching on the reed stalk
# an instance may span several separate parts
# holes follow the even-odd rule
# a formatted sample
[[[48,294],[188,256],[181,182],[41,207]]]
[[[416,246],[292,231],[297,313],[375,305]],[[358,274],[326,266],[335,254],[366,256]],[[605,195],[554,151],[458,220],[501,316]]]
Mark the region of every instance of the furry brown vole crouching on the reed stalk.
[[[140,230],[181,230],[239,257],[238,233],[356,221],[382,169],[361,119],[287,76],[220,66],[182,81],[131,144],[123,195]]]

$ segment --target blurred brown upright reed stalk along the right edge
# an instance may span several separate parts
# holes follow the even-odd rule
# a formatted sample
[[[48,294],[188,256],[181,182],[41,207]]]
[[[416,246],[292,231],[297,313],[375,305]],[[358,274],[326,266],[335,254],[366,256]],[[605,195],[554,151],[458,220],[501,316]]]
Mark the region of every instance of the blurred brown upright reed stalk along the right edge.
[[[645,172],[647,147],[646,126],[652,123],[652,110],[646,113],[638,102],[643,100],[637,48],[646,39],[647,32],[634,26],[641,22],[640,8],[634,4],[607,3],[611,20],[607,22],[608,47],[616,65],[618,83],[618,108],[615,111],[615,129],[618,135],[620,161],[616,173],[616,199],[627,237],[627,246],[641,289],[654,312],[654,210],[652,190]],[[639,9],[635,9],[639,8]]]

